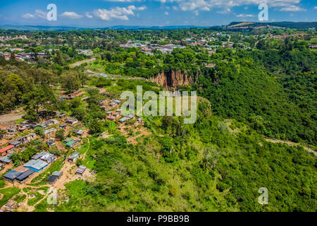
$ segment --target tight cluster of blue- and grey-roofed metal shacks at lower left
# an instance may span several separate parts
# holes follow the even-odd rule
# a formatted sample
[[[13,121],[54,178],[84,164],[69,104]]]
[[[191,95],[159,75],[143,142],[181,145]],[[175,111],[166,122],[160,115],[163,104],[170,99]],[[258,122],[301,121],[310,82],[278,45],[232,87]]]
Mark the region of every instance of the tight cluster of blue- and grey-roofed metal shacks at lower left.
[[[31,160],[26,162],[24,165],[16,167],[15,169],[11,169],[10,172],[4,174],[4,179],[7,182],[14,183],[16,181],[20,184],[23,184],[28,179],[30,179],[35,174],[35,172],[41,172],[55,160],[56,157],[54,154],[42,151],[41,153],[33,155]]]

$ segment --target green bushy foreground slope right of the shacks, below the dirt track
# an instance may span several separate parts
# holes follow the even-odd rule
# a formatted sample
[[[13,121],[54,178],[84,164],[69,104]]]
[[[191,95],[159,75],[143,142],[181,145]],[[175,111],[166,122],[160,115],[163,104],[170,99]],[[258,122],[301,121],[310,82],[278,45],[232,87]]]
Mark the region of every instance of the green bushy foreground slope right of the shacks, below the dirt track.
[[[68,184],[57,211],[315,211],[316,158],[303,148],[268,143],[237,121],[210,117],[184,125],[149,118],[153,136],[93,138],[95,182]],[[209,109],[209,110],[208,110]],[[269,204],[257,203],[260,187]]]

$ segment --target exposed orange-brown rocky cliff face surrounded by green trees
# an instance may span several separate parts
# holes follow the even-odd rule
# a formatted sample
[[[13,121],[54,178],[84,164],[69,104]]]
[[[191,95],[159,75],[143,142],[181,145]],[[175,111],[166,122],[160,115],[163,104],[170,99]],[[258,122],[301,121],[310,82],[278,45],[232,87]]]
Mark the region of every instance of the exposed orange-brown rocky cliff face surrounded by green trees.
[[[178,71],[161,72],[157,76],[150,78],[150,81],[163,85],[166,88],[178,88],[179,85],[190,85],[193,83],[192,77],[186,73]]]

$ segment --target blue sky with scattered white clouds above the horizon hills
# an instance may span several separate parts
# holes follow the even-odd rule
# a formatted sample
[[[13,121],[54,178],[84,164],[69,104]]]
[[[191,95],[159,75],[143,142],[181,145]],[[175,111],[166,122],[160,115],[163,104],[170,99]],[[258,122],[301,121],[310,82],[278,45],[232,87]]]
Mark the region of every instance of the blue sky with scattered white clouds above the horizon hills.
[[[0,0],[1,25],[224,25],[258,21],[259,4],[269,21],[317,21],[317,2],[308,0]],[[46,19],[56,4],[57,20]]]

